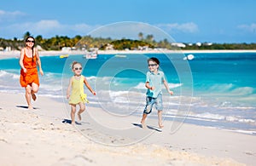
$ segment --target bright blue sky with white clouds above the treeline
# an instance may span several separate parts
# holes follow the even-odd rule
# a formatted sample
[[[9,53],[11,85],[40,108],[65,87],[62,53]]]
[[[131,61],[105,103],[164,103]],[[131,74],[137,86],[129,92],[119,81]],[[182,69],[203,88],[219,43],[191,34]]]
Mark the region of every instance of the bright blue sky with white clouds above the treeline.
[[[109,27],[105,31],[115,30],[113,26],[122,22],[155,27],[182,43],[256,43],[255,0],[4,0],[0,3],[0,37],[6,39],[22,38],[26,31],[44,38],[86,36],[101,27]],[[120,31],[113,33],[122,35]],[[148,34],[150,31],[144,33]]]

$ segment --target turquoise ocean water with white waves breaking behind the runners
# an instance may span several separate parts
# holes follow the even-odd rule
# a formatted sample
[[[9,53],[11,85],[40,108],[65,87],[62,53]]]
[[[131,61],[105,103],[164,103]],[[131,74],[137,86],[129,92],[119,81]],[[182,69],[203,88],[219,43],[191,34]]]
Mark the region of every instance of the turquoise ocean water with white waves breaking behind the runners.
[[[38,95],[66,100],[73,76],[73,60],[83,65],[83,74],[96,90],[88,94],[90,106],[102,107],[115,116],[141,116],[145,105],[145,73],[148,57],[160,59],[171,96],[163,87],[165,120],[195,123],[256,135],[256,53],[99,54],[96,60],[83,55],[41,57]],[[24,94],[20,87],[18,59],[0,60],[0,91]],[[151,115],[156,117],[154,111]]]

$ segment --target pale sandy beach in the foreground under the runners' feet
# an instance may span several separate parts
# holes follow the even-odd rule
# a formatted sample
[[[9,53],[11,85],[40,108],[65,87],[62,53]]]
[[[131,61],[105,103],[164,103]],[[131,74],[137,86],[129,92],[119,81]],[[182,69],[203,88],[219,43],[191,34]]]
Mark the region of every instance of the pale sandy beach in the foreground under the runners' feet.
[[[26,109],[22,94],[0,93],[0,152],[3,165],[253,165],[256,159],[256,137],[220,129],[211,129],[183,123],[177,132],[170,133],[172,122],[164,122],[162,132],[155,131],[145,140],[130,146],[102,146],[82,135],[77,127],[63,123],[70,119],[63,103],[38,95],[34,110]],[[83,119],[89,113],[104,115],[101,110],[87,107]],[[102,123],[113,122],[102,116]],[[156,124],[148,119],[148,125]],[[126,123],[129,122],[129,123]],[[87,122],[88,123],[88,122]],[[95,138],[102,135],[83,123]],[[123,126],[139,123],[139,118],[128,117],[114,121]],[[124,124],[125,123],[125,124]],[[145,130],[134,127],[136,135]],[[27,135],[29,134],[29,135]],[[130,137],[131,136],[131,137]],[[106,137],[105,137],[106,138]],[[105,139],[103,138],[103,139]],[[115,140],[115,136],[109,137]],[[110,141],[113,142],[113,141]]]

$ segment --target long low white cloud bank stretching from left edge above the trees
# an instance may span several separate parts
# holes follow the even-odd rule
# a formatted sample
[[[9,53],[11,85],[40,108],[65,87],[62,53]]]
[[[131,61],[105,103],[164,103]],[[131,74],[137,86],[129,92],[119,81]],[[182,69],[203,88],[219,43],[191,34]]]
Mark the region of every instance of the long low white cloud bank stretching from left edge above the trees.
[[[137,39],[139,32],[143,32],[144,37],[153,35],[156,41],[164,38],[168,39],[168,41],[174,41],[169,35],[172,34],[172,31],[193,33],[198,31],[198,28],[194,23],[152,26],[145,23],[127,21],[105,26],[90,26],[84,23],[67,25],[61,24],[58,20],[39,20],[37,22],[16,23],[2,28],[0,27],[0,36],[8,36],[9,38],[23,37],[26,31],[31,32],[33,36],[42,35],[46,38],[55,37],[56,35],[74,37],[75,35],[85,36],[90,34],[92,37],[111,37],[113,39],[123,37]]]

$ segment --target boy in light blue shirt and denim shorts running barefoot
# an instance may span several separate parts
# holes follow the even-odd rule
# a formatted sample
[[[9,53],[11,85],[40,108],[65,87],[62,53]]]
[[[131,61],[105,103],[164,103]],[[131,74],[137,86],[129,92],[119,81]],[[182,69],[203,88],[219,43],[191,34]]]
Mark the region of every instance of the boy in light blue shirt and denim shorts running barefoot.
[[[148,69],[149,72],[147,72],[146,77],[146,88],[147,91],[147,98],[146,98],[146,106],[143,112],[143,118],[142,118],[142,127],[145,128],[145,120],[149,113],[152,111],[152,107],[155,105],[155,108],[158,110],[158,125],[161,128],[163,128],[162,124],[162,111],[163,111],[163,105],[162,105],[162,91],[161,91],[161,85],[164,83],[166,90],[169,94],[173,94],[173,92],[169,89],[168,83],[166,82],[166,77],[164,72],[159,71],[159,65],[160,61],[157,58],[149,58],[148,59]]]

